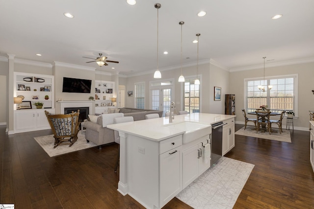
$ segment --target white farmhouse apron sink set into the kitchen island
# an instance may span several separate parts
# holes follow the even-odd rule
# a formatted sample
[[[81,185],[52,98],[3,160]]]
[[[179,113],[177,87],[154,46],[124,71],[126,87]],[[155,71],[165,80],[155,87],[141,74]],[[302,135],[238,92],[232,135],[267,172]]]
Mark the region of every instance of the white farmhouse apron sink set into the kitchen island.
[[[167,127],[170,129],[176,129],[179,131],[185,131],[185,133],[183,134],[183,140],[182,140],[183,144],[199,139],[211,133],[210,125],[202,124],[202,123],[195,123],[195,122],[184,121],[180,123],[170,123],[170,124],[164,125],[164,127]]]

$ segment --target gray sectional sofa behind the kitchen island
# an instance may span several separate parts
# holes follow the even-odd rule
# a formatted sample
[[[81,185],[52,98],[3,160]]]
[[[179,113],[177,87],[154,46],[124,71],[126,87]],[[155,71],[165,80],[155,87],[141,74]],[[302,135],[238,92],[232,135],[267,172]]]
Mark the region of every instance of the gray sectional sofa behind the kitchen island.
[[[159,117],[162,116],[163,111],[136,109],[136,108],[119,108],[119,112],[123,113],[124,116],[133,116],[135,120],[145,120],[145,115],[157,113]],[[114,114],[114,113],[113,113]],[[111,115],[111,114],[103,114]],[[87,142],[91,141],[98,145],[99,149],[101,145],[114,142],[114,131],[107,127],[103,127],[103,115],[97,118],[97,123],[92,121],[82,122],[82,126],[86,128],[85,139]]]

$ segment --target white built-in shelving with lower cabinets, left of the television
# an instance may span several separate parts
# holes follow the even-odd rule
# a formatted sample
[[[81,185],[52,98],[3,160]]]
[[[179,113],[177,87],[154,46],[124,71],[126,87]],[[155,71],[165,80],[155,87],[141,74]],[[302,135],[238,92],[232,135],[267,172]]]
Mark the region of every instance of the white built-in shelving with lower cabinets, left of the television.
[[[45,110],[55,113],[53,91],[53,75],[14,72],[14,97],[23,98],[20,110],[14,104],[14,133],[50,129]],[[35,102],[43,108],[36,109]]]

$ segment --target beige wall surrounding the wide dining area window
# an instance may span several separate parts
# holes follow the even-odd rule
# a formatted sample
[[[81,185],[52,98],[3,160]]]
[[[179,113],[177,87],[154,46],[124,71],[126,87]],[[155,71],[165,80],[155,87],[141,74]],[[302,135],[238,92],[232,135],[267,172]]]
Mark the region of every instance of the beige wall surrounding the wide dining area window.
[[[275,75],[298,74],[298,117],[293,119],[294,128],[309,130],[309,110],[314,110],[314,63],[304,63],[280,67],[265,68],[265,77]],[[241,109],[244,107],[244,79],[263,77],[263,69],[245,70],[230,73],[230,93],[235,94],[236,122],[244,123]],[[284,127],[286,127],[286,119]]]

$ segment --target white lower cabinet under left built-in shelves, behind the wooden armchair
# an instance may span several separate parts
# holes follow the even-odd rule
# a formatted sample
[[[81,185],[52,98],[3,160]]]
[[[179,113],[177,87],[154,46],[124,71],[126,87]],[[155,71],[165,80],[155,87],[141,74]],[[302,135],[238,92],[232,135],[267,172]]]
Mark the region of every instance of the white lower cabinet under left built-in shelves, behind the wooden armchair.
[[[49,109],[54,114],[54,109]],[[14,133],[50,129],[44,109],[15,110]]]

